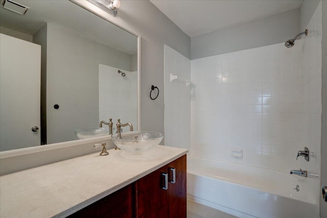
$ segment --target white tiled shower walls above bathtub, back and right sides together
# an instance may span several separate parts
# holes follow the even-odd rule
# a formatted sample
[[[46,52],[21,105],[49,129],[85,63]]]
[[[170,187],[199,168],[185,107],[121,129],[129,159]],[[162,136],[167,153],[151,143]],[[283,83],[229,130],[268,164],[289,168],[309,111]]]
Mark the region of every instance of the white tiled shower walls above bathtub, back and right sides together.
[[[311,164],[320,163],[319,8],[309,35],[290,49],[280,43],[191,61],[193,155],[285,173],[320,172],[302,157],[295,160],[306,146],[318,154]],[[231,149],[243,150],[243,157],[232,157]]]

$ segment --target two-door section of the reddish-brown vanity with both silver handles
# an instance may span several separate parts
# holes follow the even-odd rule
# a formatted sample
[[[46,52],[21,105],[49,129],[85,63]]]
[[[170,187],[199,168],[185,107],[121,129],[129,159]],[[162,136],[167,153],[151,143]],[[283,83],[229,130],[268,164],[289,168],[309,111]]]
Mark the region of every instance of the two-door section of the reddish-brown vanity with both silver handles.
[[[186,155],[137,180],[135,191],[137,218],[186,217]]]

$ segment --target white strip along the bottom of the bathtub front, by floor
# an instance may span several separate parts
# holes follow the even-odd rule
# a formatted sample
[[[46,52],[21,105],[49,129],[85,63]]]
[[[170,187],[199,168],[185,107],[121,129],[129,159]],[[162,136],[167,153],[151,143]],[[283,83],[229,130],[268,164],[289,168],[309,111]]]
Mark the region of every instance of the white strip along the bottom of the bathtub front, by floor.
[[[196,203],[203,204],[205,206],[215,208],[217,210],[223,211],[225,213],[229,213],[231,215],[234,215],[234,216],[237,216],[237,217],[240,217],[240,218],[258,218],[256,216],[252,216],[252,215],[249,215],[247,213],[243,213],[243,212],[231,209],[229,207],[222,206],[220,204],[216,204],[216,203],[213,203],[213,202],[210,202],[210,201],[206,201],[204,199],[197,198],[197,197],[189,195],[189,194],[187,195],[187,198],[189,200],[191,200],[191,201],[196,202]]]

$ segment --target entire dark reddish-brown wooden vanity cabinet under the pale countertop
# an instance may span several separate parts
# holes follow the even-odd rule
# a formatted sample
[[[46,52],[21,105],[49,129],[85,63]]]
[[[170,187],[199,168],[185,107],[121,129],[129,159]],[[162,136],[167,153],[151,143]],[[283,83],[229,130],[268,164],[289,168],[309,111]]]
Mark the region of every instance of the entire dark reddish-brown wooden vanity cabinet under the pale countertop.
[[[69,217],[186,217],[186,155]]]

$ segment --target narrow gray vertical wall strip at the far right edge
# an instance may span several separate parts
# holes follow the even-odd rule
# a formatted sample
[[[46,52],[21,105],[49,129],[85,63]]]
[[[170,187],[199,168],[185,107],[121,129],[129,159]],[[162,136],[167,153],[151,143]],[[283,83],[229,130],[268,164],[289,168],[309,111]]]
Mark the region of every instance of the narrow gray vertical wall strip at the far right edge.
[[[325,186],[327,185],[327,1],[322,1],[322,11],[321,185]],[[327,202],[321,201],[320,217],[327,217]]]

